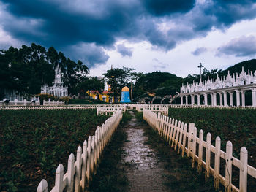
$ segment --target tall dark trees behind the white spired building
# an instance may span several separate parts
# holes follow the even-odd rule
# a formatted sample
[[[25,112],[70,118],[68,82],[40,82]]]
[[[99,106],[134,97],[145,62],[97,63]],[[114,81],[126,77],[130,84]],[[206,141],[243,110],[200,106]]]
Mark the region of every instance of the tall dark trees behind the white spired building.
[[[89,69],[82,61],[72,61],[54,47],[48,50],[41,45],[22,45],[20,49],[10,47],[0,50],[0,88],[24,93],[40,93],[41,85],[51,85],[54,69],[59,64],[62,79],[68,85],[69,93],[84,80]]]

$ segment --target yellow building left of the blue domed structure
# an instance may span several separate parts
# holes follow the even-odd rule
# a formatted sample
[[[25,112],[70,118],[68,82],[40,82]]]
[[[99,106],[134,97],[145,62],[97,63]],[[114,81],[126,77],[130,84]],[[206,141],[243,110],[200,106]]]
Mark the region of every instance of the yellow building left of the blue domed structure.
[[[112,93],[110,85],[108,85],[108,91],[103,91],[102,93],[99,93],[99,91],[87,91],[86,93],[89,94],[91,99],[99,99],[107,103],[113,103],[115,101],[114,98],[110,96],[110,93]]]

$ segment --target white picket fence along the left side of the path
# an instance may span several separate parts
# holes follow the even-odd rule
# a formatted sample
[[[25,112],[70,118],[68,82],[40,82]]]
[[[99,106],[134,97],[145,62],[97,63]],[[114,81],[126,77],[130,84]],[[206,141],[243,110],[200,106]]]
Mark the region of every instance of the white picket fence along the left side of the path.
[[[69,155],[65,174],[63,165],[59,164],[56,169],[55,186],[50,192],[86,191],[89,188],[91,175],[96,172],[102,150],[105,149],[114,131],[116,131],[122,115],[122,111],[118,110],[105,121],[102,127],[98,126],[95,135],[83,142],[83,148],[78,147],[76,161],[75,155],[72,153]],[[46,180],[39,183],[37,192],[48,192]]]

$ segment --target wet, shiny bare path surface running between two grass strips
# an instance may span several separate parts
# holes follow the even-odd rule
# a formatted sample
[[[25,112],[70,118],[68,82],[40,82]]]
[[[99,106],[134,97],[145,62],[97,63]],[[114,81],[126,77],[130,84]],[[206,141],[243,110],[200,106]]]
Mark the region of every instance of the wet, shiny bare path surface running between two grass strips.
[[[135,115],[133,116],[124,131],[127,132],[127,142],[124,144],[125,171],[129,180],[130,191],[168,191],[162,183],[162,174],[165,172],[163,162],[159,161],[151,147],[145,145],[147,137],[144,136],[146,125],[140,125]]]

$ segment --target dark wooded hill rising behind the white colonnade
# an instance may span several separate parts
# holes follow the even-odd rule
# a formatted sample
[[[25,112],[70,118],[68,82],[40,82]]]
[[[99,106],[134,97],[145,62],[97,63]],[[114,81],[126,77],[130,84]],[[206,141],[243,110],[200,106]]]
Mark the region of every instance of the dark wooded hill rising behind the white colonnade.
[[[230,74],[240,73],[242,66],[244,66],[245,72],[248,72],[249,69],[254,73],[256,70],[256,59],[243,61],[234,66],[230,66],[223,71],[222,69],[212,69],[211,71],[203,69],[202,79],[207,80],[208,76],[210,78],[216,78],[217,74],[219,74],[219,77],[227,76],[228,71],[230,71]],[[182,83],[186,85],[187,82],[192,83],[193,81],[199,82],[200,74],[189,74],[187,77],[182,78],[167,72],[146,73],[136,81],[135,89],[133,91],[134,99],[140,99],[146,96],[174,96],[176,95],[176,92],[180,91]]]

